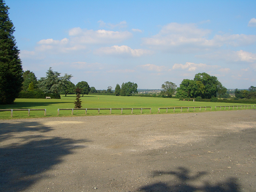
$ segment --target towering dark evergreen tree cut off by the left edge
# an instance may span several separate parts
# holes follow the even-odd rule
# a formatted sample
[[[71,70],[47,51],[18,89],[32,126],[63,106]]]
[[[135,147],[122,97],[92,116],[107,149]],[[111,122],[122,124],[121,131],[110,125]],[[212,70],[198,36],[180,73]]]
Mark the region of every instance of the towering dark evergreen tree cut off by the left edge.
[[[0,0],[0,104],[11,104],[22,86],[22,66],[9,7]]]

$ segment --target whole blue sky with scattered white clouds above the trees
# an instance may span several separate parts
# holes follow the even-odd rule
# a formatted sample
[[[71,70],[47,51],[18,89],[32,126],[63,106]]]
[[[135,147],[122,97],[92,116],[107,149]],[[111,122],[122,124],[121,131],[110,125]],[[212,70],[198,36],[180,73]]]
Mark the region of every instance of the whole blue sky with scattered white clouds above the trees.
[[[256,1],[5,0],[23,70],[96,89],[160,89],[196,73],[256,86]]]

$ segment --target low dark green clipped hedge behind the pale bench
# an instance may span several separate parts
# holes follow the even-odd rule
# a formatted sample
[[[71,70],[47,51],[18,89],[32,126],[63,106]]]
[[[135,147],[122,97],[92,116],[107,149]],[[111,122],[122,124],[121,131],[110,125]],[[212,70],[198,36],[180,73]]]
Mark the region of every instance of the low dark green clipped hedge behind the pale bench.
[[[60,94],[56,93],[44,93],[42,91],[21,91],[18,98],[27,99],[45,99],[45,97],[51,97],[51,99],[60,99]]]

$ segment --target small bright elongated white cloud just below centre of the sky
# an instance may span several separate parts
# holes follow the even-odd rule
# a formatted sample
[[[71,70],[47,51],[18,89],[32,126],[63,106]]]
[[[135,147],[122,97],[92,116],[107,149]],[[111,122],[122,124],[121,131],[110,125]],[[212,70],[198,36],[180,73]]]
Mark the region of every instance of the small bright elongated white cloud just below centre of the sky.
[[[112,47],[102,47],[95,51],[96,54],[106,54],[106,55],[124,55],[132,57],[140,57],[145,54],[150,54],[151,51],[144,49],[132,49],[126,45],[118,46],[114,45]]]

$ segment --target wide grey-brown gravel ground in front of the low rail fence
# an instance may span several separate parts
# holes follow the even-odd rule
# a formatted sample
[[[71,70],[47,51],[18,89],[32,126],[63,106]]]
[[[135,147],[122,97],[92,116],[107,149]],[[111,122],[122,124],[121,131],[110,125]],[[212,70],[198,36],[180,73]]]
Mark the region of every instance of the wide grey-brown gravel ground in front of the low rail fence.
[[[0,123],[0,191],[256,188],[255,109]]]

